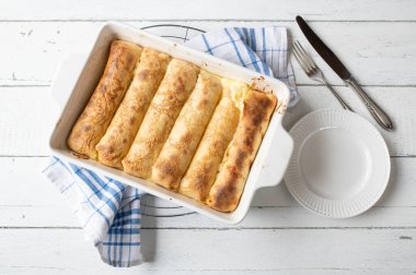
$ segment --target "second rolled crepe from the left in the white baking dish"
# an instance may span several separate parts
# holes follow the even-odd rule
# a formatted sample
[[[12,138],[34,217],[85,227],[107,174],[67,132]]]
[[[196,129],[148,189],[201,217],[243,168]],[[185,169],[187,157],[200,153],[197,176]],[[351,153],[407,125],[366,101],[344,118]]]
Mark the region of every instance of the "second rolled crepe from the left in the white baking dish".
[[[165,53],[150,48],[143,49],[132,82],[107,131],[95,146],[100,163],[123,167],[122,160],[130,148],[170,60]]]

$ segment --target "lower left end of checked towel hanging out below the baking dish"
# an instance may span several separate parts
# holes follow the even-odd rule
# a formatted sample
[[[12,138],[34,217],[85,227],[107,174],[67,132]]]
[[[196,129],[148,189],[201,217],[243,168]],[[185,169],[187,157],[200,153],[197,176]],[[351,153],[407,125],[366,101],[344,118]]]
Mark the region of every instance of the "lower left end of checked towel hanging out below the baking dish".
[[[57,157],[43,172],[69,200],[85,239],[104,262],[119,267],[141,262],[138,189]]]

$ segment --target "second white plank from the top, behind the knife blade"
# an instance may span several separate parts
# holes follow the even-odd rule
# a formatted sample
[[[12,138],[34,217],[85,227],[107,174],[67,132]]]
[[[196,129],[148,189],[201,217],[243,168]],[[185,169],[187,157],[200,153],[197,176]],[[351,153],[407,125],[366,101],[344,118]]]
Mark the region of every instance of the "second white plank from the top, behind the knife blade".
[[[1,9],[0,9],[1,10]],[[163,22],[126,22],[137,27]],[[49,85],[59,63],[67,53],[84,52],[93,43],[97,22],[5,22],[0,24],[3,43],[0,51],[0,85]],[[206,31],[224,26],[264,26],[276,22],[176,22]],[[299,39],[315,58],[331,83],[343,85],[305,41],[299,27],[292,22],[287,26],[292,39]],[[347,68],[365,85],[416,86],[416,22],[313,22],[311,26],[340,57]],[[149,29],[158,35],[184,37],[186,29]],[[193,37],[197,32],[188,32]],[[299,84],[316,84],[300,71],[293,62]],[[42,68],[42,69],[39,69]]]

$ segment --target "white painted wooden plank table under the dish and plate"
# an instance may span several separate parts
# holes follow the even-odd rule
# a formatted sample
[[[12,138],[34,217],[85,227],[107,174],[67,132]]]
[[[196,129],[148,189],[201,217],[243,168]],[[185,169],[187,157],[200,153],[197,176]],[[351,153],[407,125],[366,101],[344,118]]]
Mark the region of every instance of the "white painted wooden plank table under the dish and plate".
[[[141,240],[147,262],[124,270],[103,264],[39,172],[58,113],[49,87],[65,55],[82,51],[108,20],[205,31],[278,22],[314,53],[293,23],[297,14],[394,120],[394,132],[381,130],[392,162],[383,198],[358,217],[327,219],[300,207],[280,184],[256,194],[242,224],[227,226],[148,196]],[[416,273],[415,1],[2,0],[0,34],[0,274]],[[373,122],[357,96],[315,60],[348,104]],[[339,108],[326,88],[294,68],[301,101],[286,117],[288,128],[311,110]]]

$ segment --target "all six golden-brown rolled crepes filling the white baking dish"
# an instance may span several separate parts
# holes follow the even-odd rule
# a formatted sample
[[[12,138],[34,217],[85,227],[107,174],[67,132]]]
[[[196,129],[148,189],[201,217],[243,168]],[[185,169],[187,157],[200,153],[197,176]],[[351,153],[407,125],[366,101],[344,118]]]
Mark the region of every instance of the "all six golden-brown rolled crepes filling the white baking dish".
[[[233,212],[276,105],[271,93],[113,40],[67,145],[213,210]]]

